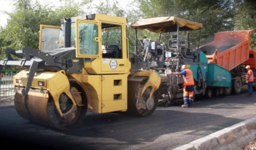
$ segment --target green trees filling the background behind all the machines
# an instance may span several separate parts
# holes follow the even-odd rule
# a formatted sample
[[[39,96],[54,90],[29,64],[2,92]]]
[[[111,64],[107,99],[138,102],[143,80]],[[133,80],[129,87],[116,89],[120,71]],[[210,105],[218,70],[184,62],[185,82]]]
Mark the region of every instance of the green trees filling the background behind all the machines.
[[[80,16],[89,13],[102,13],[113,16],[125,17],[128,25],[140,19],[160,16],[177,16],[203,24],[202,44],[210,42],[214,33],[255,29],[256,4],[254,0],[137,0],[126,6],[120,7],[118,0],[101,0],[95,6],[93,0],[59,0],[58,5],[42,5],[38,1],[15,0],[15,9],[7,13],[9,19],[5,27],[0,27],[0,59],[4,56],[4,47],[20,49],[22,46],[38,48],[39,26],[60,25],[60,19]],[[59,6],[61,4],[61,6]],[[163,35],[163,40],[172,34]],[[159,34],[138,31],[138,38],[143,36],[158,40]],[[182,35],[186,36],[186,32]],[[129,47],[134,51],[135,31],[127,26]],[[190,37],[198,42],[198,32],[191,32]],[[193,38],[194,37],[194,38]],[[256,32],[251,34],[251,48],[256,49]]]

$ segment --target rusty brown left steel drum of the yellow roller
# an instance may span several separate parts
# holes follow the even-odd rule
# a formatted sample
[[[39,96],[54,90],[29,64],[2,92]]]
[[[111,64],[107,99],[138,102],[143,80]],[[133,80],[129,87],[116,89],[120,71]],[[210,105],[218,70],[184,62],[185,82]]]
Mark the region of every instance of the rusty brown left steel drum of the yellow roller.
[[[76,84],[70,84],[70,92],[73,98],[83,101],[84,105],[72,107],[73,103],[65,93],[59,97],[61,112],[66,117],[61,117],[55,107],[51,95],[40,92],[28,92],[23,96],[21,90],[17,90],[14,98],[14,106],[18,114],[24,119],[39,122],[58,129],[76,127],[81,123],[86,115],[87,101],[86,95]]]

